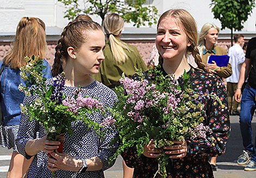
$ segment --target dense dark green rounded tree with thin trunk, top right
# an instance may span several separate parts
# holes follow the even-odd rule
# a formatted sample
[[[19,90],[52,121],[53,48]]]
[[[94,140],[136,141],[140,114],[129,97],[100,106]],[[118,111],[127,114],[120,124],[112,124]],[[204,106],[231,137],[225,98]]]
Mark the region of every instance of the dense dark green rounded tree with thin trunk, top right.
[[[240,31],[243,23],[251,15],[255,0],[211,0],[210,6],[214,18],[221,21],[221,29],[231,30],[231,45],[233,45],[233,29]]]

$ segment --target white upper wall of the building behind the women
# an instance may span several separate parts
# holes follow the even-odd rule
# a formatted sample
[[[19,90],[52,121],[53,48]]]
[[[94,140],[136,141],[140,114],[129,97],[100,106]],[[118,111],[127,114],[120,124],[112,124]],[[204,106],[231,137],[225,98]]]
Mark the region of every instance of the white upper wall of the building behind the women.
[[[80,0],[82,3],[83,0]],[[215,23],[221,27],[220,21],[214,19],[209,4],[210,0],[154,0],[152,5],[155,5],[159,10],[159,15],[164,11],[173,8],[183,8],[188,10],[197,22],[198,30],[202,28],[206,22]],[[47,27],[57,26],[64,28],[69,20],[64,19],[65,7],[57,0],[0,0],[0,33],[16,31],[17,23],[23,16],[34,16],[42,19]],[[256,8],[253,9],[253,14],[245,23],[245,28],[242,32],[255,33],[255,16]],[[100,17],[92,16],[94,21],[101,23]],[[125,27],[133,27],[132,24],[125,24]],[[153,25],[153,28],[156,26]],[[222,30],[229,33],[229,29]]]

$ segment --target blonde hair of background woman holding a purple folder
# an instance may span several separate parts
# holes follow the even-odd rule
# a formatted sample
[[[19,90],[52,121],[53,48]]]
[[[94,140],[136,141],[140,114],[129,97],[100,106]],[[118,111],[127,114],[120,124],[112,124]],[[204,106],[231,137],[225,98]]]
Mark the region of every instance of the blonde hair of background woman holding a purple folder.
[[[212,23],[205,23],[203,27],[201,28],[199,39],[198,39],[198,48],[200,54],[205,50],[205,36],[209,33],[209,29],[216,28],[218,30],[218,33],[220,32],[220,28],[218,28],[215,24]],[[216,45],[216,44],[215,44]]]

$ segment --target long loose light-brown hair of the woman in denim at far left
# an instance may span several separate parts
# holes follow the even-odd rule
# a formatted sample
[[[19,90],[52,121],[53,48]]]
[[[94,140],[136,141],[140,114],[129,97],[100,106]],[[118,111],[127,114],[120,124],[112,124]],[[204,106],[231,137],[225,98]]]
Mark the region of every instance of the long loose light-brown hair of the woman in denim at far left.
[[[13,69],[25,66],[25,56],[44,58],[47,50],[45,23],[35,17],[22,17],[11,50],[3,59],[3,63]]]

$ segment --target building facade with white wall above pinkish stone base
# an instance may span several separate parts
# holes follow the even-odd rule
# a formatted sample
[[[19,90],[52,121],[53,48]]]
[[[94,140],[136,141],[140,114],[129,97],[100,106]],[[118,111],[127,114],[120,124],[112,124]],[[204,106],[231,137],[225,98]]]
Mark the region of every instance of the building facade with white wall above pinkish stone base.
[[[124,0],[125,1],[125,0]],[[79,0],[81,7],[86,0]],[[174,8],[182,8],[189,11],[197,22],[198,31],[204,23],[214,23],[221,28],[220,21],[214,19],[211,12],[210,0],[147,0],[145,5],[154,5],[161,15],[164,11]],[[21,17],[39,17],[46,24],[46,35],[48,53],[46,60],[52,65],[57,40],[60,38],[62,29],[68,24],[69,20],[64,19],[65,7],[57,0],[0,0],[0,59],[10,50],[11,41],[15,35],[17,23]],[[245,39],[251,39],[255,33],[256,8],[253,9],[251,16],[244,24],[241,33]],[[101,23],[100,17],[91,16],[96,22]],[[156,24],[151,27],[133,27],[132,24],[125,23],[121,39],[131,45],[135,45],[146,61],[150,56],[151,47],[155,42]],[[218,44],[228,50],[230,46],[230,30],[221,30]]]

